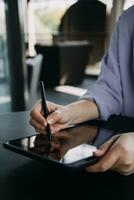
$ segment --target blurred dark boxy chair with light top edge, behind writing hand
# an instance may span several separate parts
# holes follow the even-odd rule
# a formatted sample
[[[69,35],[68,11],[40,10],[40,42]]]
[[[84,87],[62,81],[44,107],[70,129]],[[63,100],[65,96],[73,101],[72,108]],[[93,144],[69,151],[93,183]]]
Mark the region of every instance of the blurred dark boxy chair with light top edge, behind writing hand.
[[[46,86],[76,85],[83,80],[92,44],[64,41],[51,46],[36,44],[35,49],[44,55],[40,79]]]

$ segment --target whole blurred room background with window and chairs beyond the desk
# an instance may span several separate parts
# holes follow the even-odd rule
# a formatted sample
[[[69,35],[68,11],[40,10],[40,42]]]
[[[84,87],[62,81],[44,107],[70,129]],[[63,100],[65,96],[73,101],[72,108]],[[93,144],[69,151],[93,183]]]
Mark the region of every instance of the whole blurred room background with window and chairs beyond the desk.
[[[95,84],[111,32],[133,0],[0,0],[0,114],[40,98],[67,104]]]

